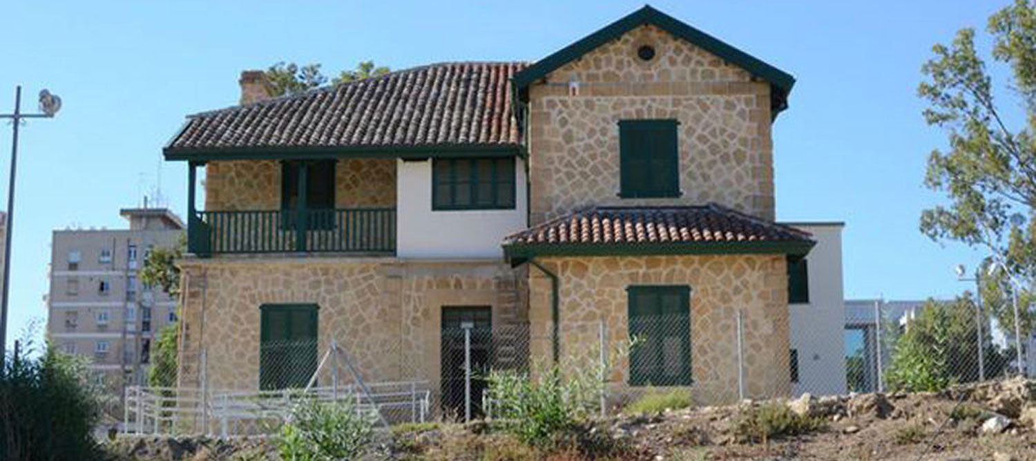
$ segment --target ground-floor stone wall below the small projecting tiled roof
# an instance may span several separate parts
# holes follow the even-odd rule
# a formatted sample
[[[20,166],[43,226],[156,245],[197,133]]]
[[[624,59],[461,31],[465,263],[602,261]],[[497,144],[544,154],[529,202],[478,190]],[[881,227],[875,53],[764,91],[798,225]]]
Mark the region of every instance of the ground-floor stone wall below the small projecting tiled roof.
[[[691,373],[699,403],[738,399],[737,313],[742,311],[746,393],[751,398],[787,396],[788,310],[783,256],[646,256],[543,258],[560,279],[563,361],[596,355],[597,325],[605,322],[611,346],[628,341],[627,287],[691,287]],[[550,322],[550,281],[537,269],[529,279],[529,320]],[[533,353],[549,356],[546,337]],[[626,391],[624,361],[611,376]]]

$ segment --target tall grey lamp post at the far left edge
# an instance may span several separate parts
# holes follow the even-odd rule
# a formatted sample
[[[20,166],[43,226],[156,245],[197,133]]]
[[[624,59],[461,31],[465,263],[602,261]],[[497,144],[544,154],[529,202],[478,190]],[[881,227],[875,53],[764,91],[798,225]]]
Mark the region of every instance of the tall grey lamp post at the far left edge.
[[[15,88],[15,112],[0,114],[0,118],[11,119],[15,136],[10,145],[10,179],[7,182],[7,229],[4,232],[3,252],[3,289],[0,292],[0,354],[6,351],[7,345],[7,294],[10,286],[10,234],[15,229],[15,169],[18,166],[18,127],[23,118],[51,118],[61,109],[61,98],[48,90],[39,92],[39,114],[22,113],[22,86]]]

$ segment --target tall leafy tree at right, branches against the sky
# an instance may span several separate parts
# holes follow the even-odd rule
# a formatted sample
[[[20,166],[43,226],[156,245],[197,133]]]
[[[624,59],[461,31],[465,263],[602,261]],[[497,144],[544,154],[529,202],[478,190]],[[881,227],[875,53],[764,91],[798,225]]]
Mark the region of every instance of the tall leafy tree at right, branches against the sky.
[[[946,129],[949,147],[928,159],[925,185],[949,203],[924,210],[921,231],[936,240],[956,240],[988,251],[1024,287],[1036,279],[1036,9],[1016,0],[989,18],[992,62],[1009,69],[1007,94],[996,98],[992,78],[975,49],[975,30],[962,29],[952,44],[936,45],[922,66],[927,78],[918,93],[929,104],[924,118]],[[1016,121],[1005,108],[1019,107]],[[1017,117],[1014,117],[1017,118]],[[986,306],[1013,332],[1011,284],[1004,273],[983,278]],[[1023,335],[1036,325],[1027,307],[1030,289],[1017,293]]]

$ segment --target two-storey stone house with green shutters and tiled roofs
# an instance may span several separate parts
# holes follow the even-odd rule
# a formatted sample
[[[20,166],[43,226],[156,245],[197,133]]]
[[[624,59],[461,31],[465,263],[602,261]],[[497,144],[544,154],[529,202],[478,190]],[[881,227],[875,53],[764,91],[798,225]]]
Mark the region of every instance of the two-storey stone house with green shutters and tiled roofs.
[[[190,165],[181,354],[207,351],[210,388],[272,388],[300,381],[264,344],[316,340],[292,355],[312,370],[335,340],[366,380],[445,401],[448,328],[560,359],[589,340],[570,325],[603,320],[644,339],[615,385],[720,401],[741,315],[744,392],[789,394],[788,296],[814,244],[774,222],[794,82],[650,6],[533,63],[275,98],[242,73],[239,106],[190,115],[164,149]],[[181,363],[183,385],[198,375]]]

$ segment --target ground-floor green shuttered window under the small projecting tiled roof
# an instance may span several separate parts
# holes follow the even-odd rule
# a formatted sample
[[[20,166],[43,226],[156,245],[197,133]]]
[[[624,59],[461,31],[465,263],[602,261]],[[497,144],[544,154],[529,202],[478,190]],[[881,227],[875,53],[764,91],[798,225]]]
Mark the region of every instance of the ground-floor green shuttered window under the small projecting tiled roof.
[[[631,286],[630,385],[690,385],[691,287]]]

